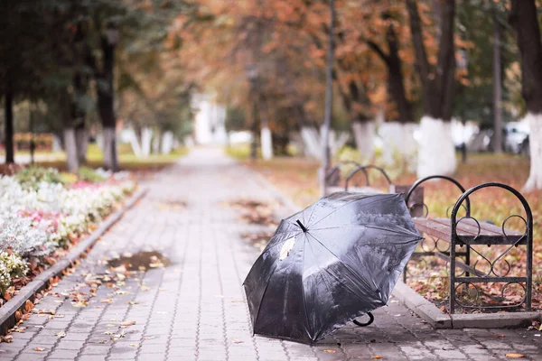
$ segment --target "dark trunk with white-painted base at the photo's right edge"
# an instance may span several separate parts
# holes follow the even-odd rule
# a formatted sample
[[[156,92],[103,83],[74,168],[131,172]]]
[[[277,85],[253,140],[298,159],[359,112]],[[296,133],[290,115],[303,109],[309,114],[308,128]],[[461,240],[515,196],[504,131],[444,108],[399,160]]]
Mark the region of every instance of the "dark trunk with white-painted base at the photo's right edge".
[[[534,0],[512,0],[509,23],[516,29],[522,95],[530,128],[530,174],[524,190],[542,190],[542,42]]]

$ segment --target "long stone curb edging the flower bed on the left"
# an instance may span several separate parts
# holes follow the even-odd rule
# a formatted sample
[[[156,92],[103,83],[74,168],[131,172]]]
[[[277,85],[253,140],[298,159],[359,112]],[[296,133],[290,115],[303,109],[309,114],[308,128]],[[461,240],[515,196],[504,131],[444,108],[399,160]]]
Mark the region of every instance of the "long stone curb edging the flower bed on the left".
[[[78,245],[70,250],[70,253],[64,256],[59,262],[51,265],[42,273],[38,274],[31,282],[25,285],[10,301],[5,302],[5,305],[0,308],[0,335],[5,335],[8,329],[11,329],[16,324],[15,312],[24,307],[24,303],[28,300],[34,300],[34,295],[42,291],[49,284],[51,278],[60,275],[62,271],[70,267],[87,248],[94,245],[100,236],[107,232],[107,229],[112,227],[117,221],[122,218],[126,211],[135,205],[135,202],[143,196],[147,189],[141,188],[136,190],[135,194],[126,200],[122,208],[118,209],[113,214],[109,215],[105,221],[101,222],[98,228],[89,236],[86,236]]]

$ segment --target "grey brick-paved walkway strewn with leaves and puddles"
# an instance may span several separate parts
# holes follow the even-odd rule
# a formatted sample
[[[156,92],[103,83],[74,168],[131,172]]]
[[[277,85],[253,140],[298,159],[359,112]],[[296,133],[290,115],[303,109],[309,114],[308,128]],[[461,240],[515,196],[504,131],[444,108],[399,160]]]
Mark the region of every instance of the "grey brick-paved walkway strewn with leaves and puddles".
[[[14,332],[12,343],[0,344],[0,360],[495,360],[509,353],[531,359],[542,355],[535,336],[540,332],[435,330],[393,299],[375,312],[370,327],[348,325],[313,347],[253,337],[241,283],[257,250],[240,234],[258,227],[243,223],[220,202],[274,200],[274,193],[251,171],[212,149],[193,151],[149,188],[145,199],[36,306],[54,310],[54,317],[33,314],[24,321],[26,329]],[[167,200],[182,200],[186,207],[164,207]],[[159,250],[172,263],[126,279],[107,266],[115,255],[141,250]],[[87,307],[74,307],[81,306],[72,302],[74,297],[91,293],[96,296]]]

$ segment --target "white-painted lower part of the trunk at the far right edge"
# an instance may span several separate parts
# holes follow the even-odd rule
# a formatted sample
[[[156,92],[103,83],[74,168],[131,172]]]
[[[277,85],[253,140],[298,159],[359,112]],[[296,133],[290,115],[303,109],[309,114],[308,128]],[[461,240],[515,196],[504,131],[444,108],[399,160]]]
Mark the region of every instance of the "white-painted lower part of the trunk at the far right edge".
[[[542,114],[528,113],[530,172],[523,190],[542,190]]]

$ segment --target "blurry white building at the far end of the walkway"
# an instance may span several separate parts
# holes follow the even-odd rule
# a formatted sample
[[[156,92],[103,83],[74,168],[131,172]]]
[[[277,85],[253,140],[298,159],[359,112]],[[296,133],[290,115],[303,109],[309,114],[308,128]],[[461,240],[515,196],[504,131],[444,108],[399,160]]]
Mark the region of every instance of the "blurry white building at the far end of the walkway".
[[[198,144],[224,145],[228,143],[226,133],[226,107],[220,106],[213,97],[198,94],[192,99],[195,113],[194,138]]]

